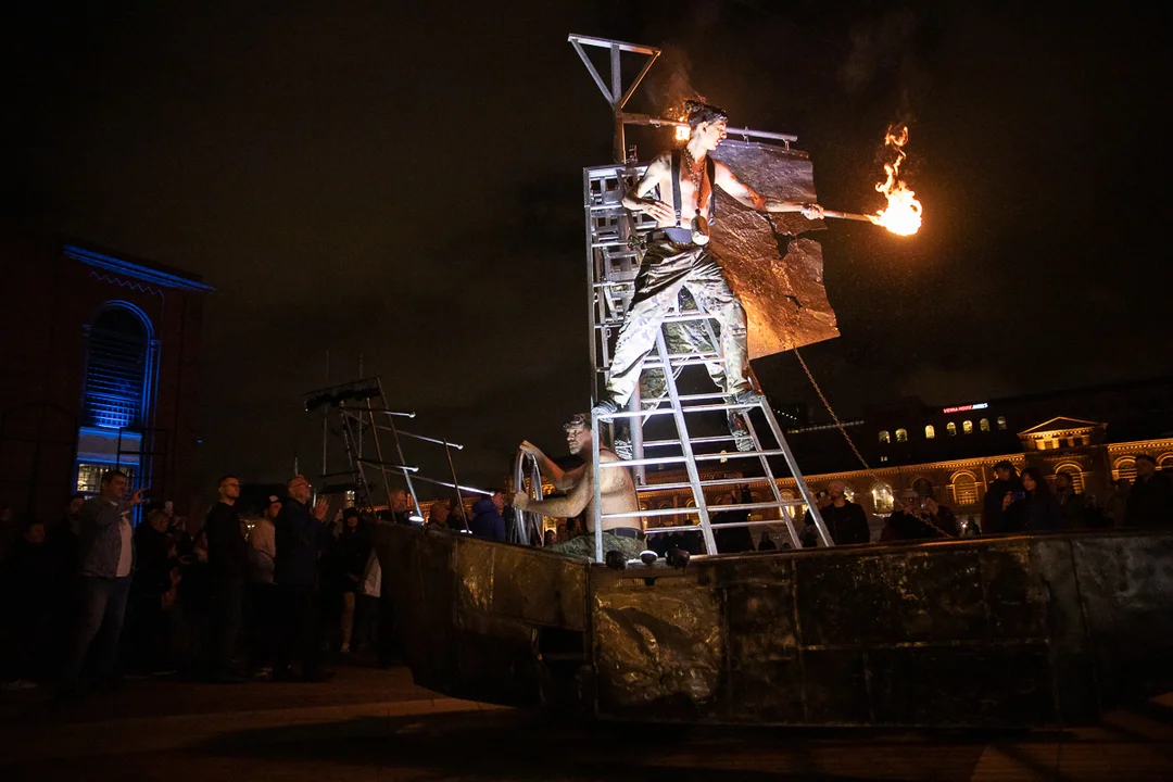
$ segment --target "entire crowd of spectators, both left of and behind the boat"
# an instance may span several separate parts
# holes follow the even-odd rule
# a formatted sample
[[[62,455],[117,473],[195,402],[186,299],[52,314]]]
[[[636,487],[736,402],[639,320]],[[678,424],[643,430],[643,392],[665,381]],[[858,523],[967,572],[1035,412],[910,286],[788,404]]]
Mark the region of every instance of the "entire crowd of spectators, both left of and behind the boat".
[[[909,489],[877,536],[842,482],[814,498],[836,545],[1173,529],[1169,472],[1159,471],[1147,455],[1137,456],[1135,464],[1135,480],[1116,481],[1097,501],[1077,491],[1071,475],[1053,476],[1052,488],[1037,468],[1019,475],[1009,461],[999,462],[979,522],[958,521],[950,508]],[[128,478],[117,470],[102,476],[97,496],[72,497],[55,524],[19,524],[11,509],[0,508],[4,688],[50,682],[68,698],[83,687],[116,686],[123,674],[175,673],[224,684],[325,681],[324,653],[358,653],[392,665],[391,591],[372,532],[378,524],[420,521],[407,492],[393,491],[378,514],[340,509],[327,521],[328,503],[311,503],[304,476],[287,483],[286,496],[269,495],[260,508],[242,509],[240,489],[237,477],[223,477],[217,502],[195,535],[170,503],[142,512],[142,492],[128,494]],[[712,523],[721,553],[791,546],[767,530],[755,543],[750,510],[738,508],[753,502],[744,485],[717,498]],[[131,523],[136,514],[137,528]],[[504,542],[511,517],[504,494],[491,491],[472,508],[459,496],[436,499],[427,525]],[[812,515],[801,521],[800,543],[818,545]],[[547,530],[541,544],[567,542],[586,528],[582,517],[567,519]],[[704,550],[696,529],[649,535],[647,545],[659,555]]]

